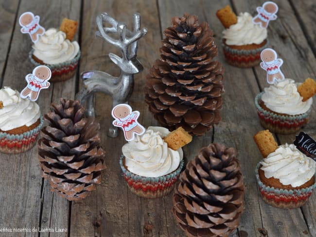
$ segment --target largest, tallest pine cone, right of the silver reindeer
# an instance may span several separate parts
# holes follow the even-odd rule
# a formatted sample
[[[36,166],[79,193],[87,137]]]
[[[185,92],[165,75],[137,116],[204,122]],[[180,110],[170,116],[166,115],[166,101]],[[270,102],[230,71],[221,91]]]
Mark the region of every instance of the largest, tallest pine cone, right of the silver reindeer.
[[[208,23],[173,17],[164,31],[160,59],[150,69],[145,101],[160,124],[202,135],[221,119],[224,68],[212,61],[217,46]]]

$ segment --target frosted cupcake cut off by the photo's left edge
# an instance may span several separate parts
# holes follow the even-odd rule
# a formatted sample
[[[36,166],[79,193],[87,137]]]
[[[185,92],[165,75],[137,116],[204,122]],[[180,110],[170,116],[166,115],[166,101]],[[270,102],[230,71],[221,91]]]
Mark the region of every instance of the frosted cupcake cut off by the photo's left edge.
[[[0,89],[0,152],[30,150],[43,122],[37,103],[20,98],[10,87]]]

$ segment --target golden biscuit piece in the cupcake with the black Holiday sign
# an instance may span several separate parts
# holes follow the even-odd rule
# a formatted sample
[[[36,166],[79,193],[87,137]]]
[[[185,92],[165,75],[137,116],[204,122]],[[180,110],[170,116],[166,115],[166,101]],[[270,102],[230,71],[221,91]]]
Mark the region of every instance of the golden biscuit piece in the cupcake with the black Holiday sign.
[[[269,130],[258,132],[253,136],[253,139],[257,143],[263,158],[267,157],[270,153],[274,152],[278,148],[278,143]]]

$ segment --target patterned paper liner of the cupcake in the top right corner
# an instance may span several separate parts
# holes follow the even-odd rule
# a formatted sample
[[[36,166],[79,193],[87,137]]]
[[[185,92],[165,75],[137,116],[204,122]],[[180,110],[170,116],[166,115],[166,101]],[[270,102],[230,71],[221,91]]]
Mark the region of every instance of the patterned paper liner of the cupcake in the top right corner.
[[[226,61],[233,66],[239,68],[251,68],[254,66],[258,66],[261,62],[261,51],[267,48],[269,44],[268,39],[266,39],[266,43],[255,50],[237,50],[232,49],[228,45],[222,43],[224,55]]]

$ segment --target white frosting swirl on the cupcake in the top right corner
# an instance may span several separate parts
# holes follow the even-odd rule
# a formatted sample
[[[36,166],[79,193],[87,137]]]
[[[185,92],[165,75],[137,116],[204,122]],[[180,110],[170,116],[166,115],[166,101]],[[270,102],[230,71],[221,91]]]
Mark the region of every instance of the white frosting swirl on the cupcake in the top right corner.
[[[252,22],[252,16],[245,12],[237,17],[237,23],[223,31],[227,45],[261,44],[267,38],[267,30]]]

